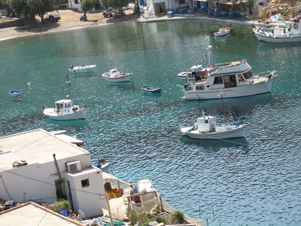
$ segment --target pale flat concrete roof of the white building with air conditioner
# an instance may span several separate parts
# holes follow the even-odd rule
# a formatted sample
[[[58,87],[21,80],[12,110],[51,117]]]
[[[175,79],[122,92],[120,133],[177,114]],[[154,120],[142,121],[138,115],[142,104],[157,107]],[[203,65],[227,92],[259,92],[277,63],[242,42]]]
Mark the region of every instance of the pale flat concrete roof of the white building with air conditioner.
[[[74,155],[89,154],[88,151],[62,140],[42,129],[0,137],[0,171],[13,168],[15,161],[26,160],[29,164],[52,162]],[[59,156],[59,157],[58,157]]]

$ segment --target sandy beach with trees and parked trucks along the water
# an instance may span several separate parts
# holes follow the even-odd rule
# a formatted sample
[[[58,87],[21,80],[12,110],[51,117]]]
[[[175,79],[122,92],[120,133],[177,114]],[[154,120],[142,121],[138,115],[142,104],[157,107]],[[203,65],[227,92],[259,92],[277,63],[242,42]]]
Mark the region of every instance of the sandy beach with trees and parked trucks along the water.
[[[72,11],[70,9],[58,10],[58,12],[61,15],[61,20],[59,20],[58,22],[43,24],[41,21],[38,21],[35,24],[33,22],[29,22],[28,20],[24,20],[23,26],[2,28],[0,29],[0,41],[29,35],[37,35],[42,33],[73,30],[82,27],[99,26],[125,21],[136,21],[139,18],[138,15],[133,14],[132,9],[127,9],[125,11],[126,15],[119,18],[104,18],[101,11],[87,13],[88,21],[85,22],[79,20],[79,17],[83,15],[82,12]],[[40,18],[36,17],[36,19],[39,20]]]

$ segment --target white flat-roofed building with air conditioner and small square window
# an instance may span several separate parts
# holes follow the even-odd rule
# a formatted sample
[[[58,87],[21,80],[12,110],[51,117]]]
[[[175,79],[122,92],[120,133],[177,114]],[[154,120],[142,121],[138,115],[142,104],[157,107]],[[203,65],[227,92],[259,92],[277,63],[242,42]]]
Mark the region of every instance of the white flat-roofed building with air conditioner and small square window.
[[[65,197],[86,217],[107,209],[102,172],[92,166],[90,152],[42,129],[0,137],[0,176],[0,198],[7,201]]]

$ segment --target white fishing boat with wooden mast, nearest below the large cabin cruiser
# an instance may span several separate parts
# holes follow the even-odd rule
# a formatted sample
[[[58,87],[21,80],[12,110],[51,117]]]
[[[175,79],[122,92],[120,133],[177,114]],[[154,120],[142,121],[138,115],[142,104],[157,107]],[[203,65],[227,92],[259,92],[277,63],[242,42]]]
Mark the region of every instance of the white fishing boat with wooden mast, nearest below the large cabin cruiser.
[[[216,124],[215,116],[203,116],[197,118],[197,122],[193,126],[182,127],[179,124],[181,135],[196,139],[229,139],[244,137],[246,134],[246,124],[244,123],[244,116],[239,116],[235,124],[228,124],[225,115],[223,92],[218,96],[222,96],[223,112],[225,117],[225,124]]]

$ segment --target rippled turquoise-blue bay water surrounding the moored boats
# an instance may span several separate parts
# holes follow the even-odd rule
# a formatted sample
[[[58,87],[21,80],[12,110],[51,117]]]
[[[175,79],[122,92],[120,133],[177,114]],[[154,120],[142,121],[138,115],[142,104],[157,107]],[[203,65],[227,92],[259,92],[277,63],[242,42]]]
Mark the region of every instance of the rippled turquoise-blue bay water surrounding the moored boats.
[[[231,36],[215,39],[221,26],[128,22],[1,41],[0,136],[66,129],[84,141],[93,163],[105,157],[113,174],[128,182],[151,178],[163,198],[187,215],[199,218],[200,207],[201,217],[210,218],[214,206],[213,226],[301,225],[301,43],[259,42],[251,27],[237,25]],[[279,71],[271,94],[227,100],[235,120],[246,116],[245,138],[181,137],[178,124],[193,124],[201,109],[222,116],[220,100],[183,102],[176,86],[183,85],[176,75],[193,60],[208,65],[206,32],[211,64],[247,59],[253,73]],[[93,73],[70,74],[74,102],[87,105],[87,118],[47,119],[42,105],[53,107],[60,99],[71,64],[97,65]],[[132,72],[133,83],[101,77],[115,65]],[[163,93],[143,93],[144,85]],[[21,100],[10,90],[21,91]]]

